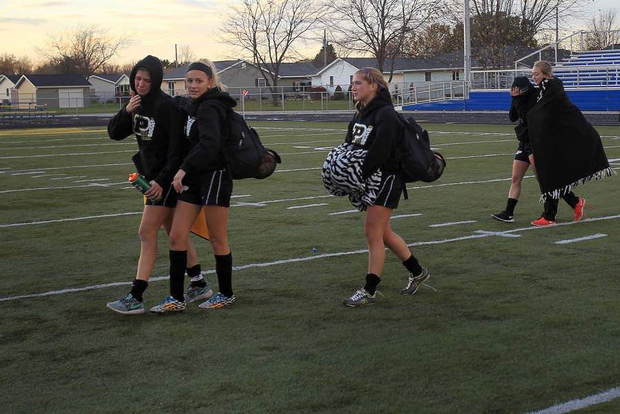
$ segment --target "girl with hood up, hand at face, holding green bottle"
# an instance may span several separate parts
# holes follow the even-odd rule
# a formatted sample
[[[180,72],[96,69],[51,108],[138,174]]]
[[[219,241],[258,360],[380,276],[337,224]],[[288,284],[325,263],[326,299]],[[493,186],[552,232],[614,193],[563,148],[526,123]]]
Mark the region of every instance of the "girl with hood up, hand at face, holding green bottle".
[[[108,134],[113,140],[124,140],[135,134],[139,152],[132,160],[137,171],[151,183],[151,189],[145,193],[138,230],[140,257],[135,280],[128,294],[107,305],[122,314],[144,313],[142,294],[157,258],[157,232],[162,226],[170,232],[172,212],[177,203],[171,182],[182,161],[183,126],[177,104],[161,91],[163,77],[162,63],[157,57],[149,55],[139,61],[129,77],[131,99],[108,123]],[[189,276],[197,276],[200,265],[191,243],[188,246],[191,267],[187,272]]]

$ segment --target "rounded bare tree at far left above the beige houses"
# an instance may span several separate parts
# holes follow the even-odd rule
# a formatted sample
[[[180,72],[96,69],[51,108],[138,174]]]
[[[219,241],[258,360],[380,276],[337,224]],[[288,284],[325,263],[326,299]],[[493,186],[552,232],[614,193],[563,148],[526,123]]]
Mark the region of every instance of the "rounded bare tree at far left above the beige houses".
[[[106,29],[80,26],[58,36],[50,35],[43,54],[50,62],[72,62],[75,72],[88,76],[96,73],[128,44],[129,40],[124,37],[112,39]]]

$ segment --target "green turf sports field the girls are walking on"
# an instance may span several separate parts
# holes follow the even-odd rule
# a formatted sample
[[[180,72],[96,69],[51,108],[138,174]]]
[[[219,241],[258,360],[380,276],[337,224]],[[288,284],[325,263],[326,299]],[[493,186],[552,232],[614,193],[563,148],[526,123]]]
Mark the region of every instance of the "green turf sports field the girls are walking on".
[[[126,183],[135,142],[101,127],[0,131],[1,412],[525,413],[620,385],[620,177],[576,189],[600,220],[570,224],[562,202],[566,225],[532,229],[542,206],[527,178],[516,223],[498,223],[512,126],[427,124],[447,169],[408,185],[391,223],[416,243],[429,286],[400,296],[407,274],[388,254],[385,297],[351,309],[342,299],[366,273],[363,214],[331,215],[352,207],[320,181],[346,124],[254,126],[283,163],[267,180],[235,181],[238,301],[169,317],[106,309],[128,292],[139,253],[142,197]],[[620,167],[620,128],[597,129]],[[606,236],[555,243],[595,234]],[[164,232],[159,241],[147,306],[168,294]],[[193,241],[215,282],[210,246]],[[619,411],[616,399],[581,412]]]

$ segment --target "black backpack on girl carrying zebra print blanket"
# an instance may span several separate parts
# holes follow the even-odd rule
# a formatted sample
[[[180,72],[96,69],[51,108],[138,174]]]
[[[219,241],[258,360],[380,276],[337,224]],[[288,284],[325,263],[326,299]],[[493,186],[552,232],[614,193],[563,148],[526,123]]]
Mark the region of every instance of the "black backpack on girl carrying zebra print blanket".
[[[414,118],[403,117],[403,136],[398,147],[400,158],[400,176],[404,182],[433,182],[443,174],[445,158],[431,149],[428,131],[422,128]],[[405,198],[406,198],[405,194]]]

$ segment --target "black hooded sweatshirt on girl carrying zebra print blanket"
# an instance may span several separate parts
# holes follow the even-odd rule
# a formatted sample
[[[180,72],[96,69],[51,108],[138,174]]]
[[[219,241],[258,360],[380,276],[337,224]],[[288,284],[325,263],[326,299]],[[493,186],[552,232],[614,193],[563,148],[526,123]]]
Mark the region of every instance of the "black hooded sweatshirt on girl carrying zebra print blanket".
[[[403,123],[394,110],[389,91],[379,88],[377,95],[349,123],[345,142],[366,149],[362,178],[377,169],[383,173],[398,171],[397,147],[403,134]]]

